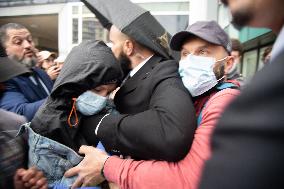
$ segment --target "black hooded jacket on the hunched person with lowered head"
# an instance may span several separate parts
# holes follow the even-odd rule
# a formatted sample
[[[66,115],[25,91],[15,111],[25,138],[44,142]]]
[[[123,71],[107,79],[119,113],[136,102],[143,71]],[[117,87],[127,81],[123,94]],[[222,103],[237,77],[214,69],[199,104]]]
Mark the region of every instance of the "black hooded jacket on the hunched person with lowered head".
[[[78,126],[71,128],[67,124],[72,98],[121,77],[121,69],[109,47],[95,40],[81,43],[67,56],[50,96],[36,113],[31,127],[37,133],[77,150],[86,142],[78,132]],[[80,122],[82,115],[77,113]]]

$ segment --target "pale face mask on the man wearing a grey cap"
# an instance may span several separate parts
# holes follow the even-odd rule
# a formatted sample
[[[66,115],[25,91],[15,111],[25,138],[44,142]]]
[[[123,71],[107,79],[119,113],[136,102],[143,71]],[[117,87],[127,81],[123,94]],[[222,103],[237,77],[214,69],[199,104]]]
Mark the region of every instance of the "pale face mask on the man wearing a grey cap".
[[[192,96],[199,96],[218,84],[213,67],[216,62],[227,57],[215,60],[212,57],[188,55],[179,62],[179,74],[182,82]]]

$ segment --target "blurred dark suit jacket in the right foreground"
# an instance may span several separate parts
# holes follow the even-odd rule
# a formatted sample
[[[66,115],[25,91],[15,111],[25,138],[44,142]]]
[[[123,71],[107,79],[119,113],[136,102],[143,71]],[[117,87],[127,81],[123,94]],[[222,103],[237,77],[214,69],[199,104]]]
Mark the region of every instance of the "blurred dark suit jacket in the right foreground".
[[[284,187],[284,49],[225,111],[201,189]]]

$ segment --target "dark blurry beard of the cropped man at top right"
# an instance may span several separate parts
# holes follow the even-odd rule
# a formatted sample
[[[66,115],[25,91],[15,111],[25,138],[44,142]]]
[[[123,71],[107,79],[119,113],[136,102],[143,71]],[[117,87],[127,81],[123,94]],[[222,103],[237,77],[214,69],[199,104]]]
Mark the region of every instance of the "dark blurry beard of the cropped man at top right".
[[[248,9],[242,9],[232,13],[232,17],[233,26],[237,30],[241,30],[252,20],[253,14]]]

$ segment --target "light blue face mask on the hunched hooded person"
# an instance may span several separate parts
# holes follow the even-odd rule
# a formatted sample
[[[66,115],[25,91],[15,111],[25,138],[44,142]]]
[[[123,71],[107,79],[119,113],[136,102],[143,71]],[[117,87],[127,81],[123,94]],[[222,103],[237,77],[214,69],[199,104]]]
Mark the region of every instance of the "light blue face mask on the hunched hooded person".
[[[76,108],[83,115],[90,116],[100,112],[107,102],[107,97],[97,95],[92,91],[86,91],[76,100]]]

